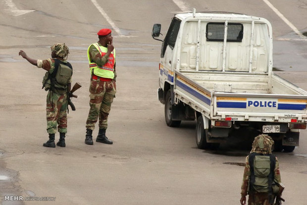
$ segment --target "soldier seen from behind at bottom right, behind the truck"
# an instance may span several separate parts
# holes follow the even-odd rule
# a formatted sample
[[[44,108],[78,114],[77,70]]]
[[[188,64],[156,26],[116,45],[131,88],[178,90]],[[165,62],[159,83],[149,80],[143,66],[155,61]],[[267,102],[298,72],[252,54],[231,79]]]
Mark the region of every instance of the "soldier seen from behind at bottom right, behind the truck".
[[[249,194],[248,205],[273,205],[272,186],[275,187],[275,185],[281,183],[278,159],[272,154],[273,145],[274,141],[268,135],[261,134],[255,138],[251,154],[246,157],[243,183],[241,187],[241,205],[246,204],[247,194]],[[267,165],[263,166],[263,161],[257,163],[256,157],[267,157],[264,158],[268,161]],[[259,174],[257,172],[260,168],[261,170],[266,170],[266,173],[269,173],[268,176],[260,176],[261,173]],[[257,177],[259,180],[255,179]]]

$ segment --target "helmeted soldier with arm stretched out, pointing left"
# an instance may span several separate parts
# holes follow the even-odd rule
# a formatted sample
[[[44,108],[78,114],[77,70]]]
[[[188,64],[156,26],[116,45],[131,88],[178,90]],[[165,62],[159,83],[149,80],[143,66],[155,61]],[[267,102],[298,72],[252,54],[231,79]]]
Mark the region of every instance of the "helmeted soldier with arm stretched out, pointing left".
[[[51,46],[51,58],[46,60],[36,60],[27,56],[24,51],[19,51],[19,55],[27,59],[31,64],[38,68],[47,70],[43,80],[43,87],[48,91],[47,94],[47,132],[49,140],[43,144],[44,147],[55,148],[54,136],[57,130],[60,139],[56,143],[59,147],[65,147],[65,133],[67,133],[67,95],[71,90],[72,66],[66,61],[69,53],[65,44],[55,44]],[[55,77],[60,66],[66,66],[68,73],[64,76],[63,85],[57,84],[58,77]],[[71,71],[70,71],[71,70]],[[53,82],[53,83],[51,83]]]

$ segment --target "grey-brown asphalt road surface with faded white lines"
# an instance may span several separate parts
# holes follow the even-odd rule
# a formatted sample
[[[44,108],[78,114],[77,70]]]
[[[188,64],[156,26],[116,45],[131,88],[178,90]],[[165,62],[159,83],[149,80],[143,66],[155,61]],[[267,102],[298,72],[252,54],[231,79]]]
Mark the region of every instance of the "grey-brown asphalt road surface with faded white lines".
[[[193,7],[267,18],[276,73],[307,90],[307,0],[0,0],[2,205],[240,204],[249,144],[229,139],[218,151],[197,149],[195,122],[167,127],[156,97],[161,42],[152,39],[152,26],[161,23],[165,34],[174,13]],[[86,51],[101,28],[112,29],[117,51],[117,93],[107,129],[114,144],[88,146]],[[18,56],[23,50],[49,58],[55,43],[69,47],[73,83],[83,85],[73,99],[77,110],[68,114],[66,148],[42,146],[48,140],[45,71]],[[283,205],[306,204],[307,131],[293,153],[275,154],[286,186]]]

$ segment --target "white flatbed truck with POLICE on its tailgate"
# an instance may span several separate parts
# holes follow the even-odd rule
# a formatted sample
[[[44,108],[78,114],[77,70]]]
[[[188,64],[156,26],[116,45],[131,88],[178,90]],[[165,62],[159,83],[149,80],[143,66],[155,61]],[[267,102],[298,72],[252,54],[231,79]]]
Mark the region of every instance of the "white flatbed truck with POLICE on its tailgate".
[[[162,41],[160,30],[153,25],[153,39]],[[158,100],[168,126],[196,119],[200,149],[217,149],[243,127],[270,135],[275,151],[299,146],[307,92],[272,73],[266,19],[193,9],[174,15],[162,42]]]

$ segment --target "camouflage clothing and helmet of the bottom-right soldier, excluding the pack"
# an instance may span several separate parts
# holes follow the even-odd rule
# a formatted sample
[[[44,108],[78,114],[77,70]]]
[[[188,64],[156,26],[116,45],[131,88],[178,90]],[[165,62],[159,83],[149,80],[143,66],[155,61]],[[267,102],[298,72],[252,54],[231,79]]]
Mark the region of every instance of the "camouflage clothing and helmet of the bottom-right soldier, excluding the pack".
[[[263,142],[263,148],[260,148],[258,145],[258,142],[262,141]],[[272,146],[274,145],[274,141],[268,136],[268,135],[258,135],[252,145],[252,153],[257,153],[257,154],[272,154]],[[249,163],[249,157],[248,155],[246,157],[246,162],[245,162],[245,169],[244,169],[244,174],[243,174],[243,183],[241,187],[241,196],[242,198],[246,198],[247,194],[249,194],[249,200],[248,200],[248,205],[272,205],[270,204],[270,198],[269,198],[269,193],[268,192],[261,192],[261,188],[255,187],[255,190],[258,190],[259,192],[255,191],[253,193],[249,192],[249,183],[250,183],[250,176],[251,176],[251,167]],[[275,163],[275,168],[274,168],[274,182],[279,184],[281,183],[281,178],[280,178],[280,172],[279,172],[279,163],[278,159],[275,156],[276,163]],[[263,188],[262,188],[263,189]],[[266,187],[267,189],[267,187]],[[263,191],[263,190],[262,190]],[[266,190],[264,190],[266,191]],[[241,199],[242,199],[241,198]]]

